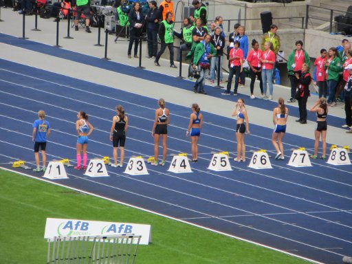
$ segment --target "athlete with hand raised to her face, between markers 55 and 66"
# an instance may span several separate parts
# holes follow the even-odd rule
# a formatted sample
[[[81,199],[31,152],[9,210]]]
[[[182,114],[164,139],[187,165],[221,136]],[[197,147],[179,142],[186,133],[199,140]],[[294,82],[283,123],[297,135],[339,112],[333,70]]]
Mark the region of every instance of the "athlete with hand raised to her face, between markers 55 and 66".
[[[236,162],[245,162],[245,142],[244,134],[250,135],[250,123],[248,120],[247,110],[243,99],[239,98],[236,103],[236,107],[232,112],[232,116],[237,115],[236,122],[236,141],[237,141],[237,157],[234,158]]]

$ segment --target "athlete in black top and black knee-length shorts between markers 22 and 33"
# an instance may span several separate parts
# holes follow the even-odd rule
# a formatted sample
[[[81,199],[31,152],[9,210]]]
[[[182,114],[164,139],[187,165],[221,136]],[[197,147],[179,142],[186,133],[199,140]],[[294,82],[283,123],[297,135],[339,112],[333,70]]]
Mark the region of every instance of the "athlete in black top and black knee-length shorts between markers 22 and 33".
[[[129,118],[124,114],[124,108],[121,105],[116,107],[116,113],[113,117],[113,124],[110,129],[110,140],[113,142],[113,164],[114,168],[122,168],[124,164],[124,142],[126,141],[126,132],[129,127]],[[120,144],[120,164],[118,164],[118,146]]]

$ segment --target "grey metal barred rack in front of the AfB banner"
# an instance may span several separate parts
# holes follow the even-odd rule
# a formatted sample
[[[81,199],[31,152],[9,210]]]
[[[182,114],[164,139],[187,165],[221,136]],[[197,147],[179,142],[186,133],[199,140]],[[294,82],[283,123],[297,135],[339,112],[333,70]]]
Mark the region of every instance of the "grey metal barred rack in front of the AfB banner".
[[[142,236],[55,236],[47,239],[47,264],[133,264]]]

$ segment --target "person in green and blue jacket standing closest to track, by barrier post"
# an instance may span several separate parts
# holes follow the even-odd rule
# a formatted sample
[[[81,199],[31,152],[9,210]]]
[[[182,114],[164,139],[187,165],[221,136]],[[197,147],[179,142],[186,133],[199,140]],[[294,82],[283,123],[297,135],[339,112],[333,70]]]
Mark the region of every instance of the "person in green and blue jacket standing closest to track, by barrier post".
[[[197,44],[193,56],[193,69],[198,69],[199,78],[195,82],[193,91],[199,94],[206,94],[204,86],[206,84],[206,70],[209,69],[210,58],[215,56],[217,51],[210,43],[210,35],[206,34],[204,40]]]

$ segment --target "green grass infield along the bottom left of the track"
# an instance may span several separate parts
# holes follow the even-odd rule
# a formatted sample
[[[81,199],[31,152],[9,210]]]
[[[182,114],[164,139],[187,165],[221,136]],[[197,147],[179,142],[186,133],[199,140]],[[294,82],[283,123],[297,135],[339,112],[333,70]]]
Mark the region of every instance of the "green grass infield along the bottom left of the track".
[[[135,263],[307,263],[228,236],[0,170],[0,257],[6,264],[45,263],[47,217],[145,223],[151,245]]]

